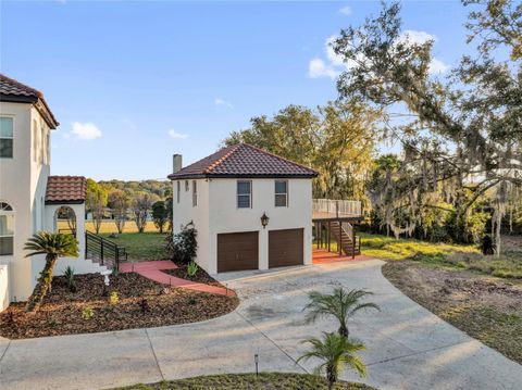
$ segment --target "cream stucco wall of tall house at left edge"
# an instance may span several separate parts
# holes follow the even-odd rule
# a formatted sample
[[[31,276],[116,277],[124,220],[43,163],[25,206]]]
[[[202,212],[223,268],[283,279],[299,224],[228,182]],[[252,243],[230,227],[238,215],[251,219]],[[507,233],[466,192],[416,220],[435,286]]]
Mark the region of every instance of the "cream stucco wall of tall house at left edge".
[[[26,259],[23,247],[34,232],[45,227],[44,200],[50,172],[46,149],[50,148],[47,142],[50,129],[32,104],[2,102],[0,114],[14,118],[13,158],[0,159],[0,201],[14,210],[14,253],[0,256],[0,264],[10,265],[10,297],[21,301],[33,291],[34,267],[40,262]]]

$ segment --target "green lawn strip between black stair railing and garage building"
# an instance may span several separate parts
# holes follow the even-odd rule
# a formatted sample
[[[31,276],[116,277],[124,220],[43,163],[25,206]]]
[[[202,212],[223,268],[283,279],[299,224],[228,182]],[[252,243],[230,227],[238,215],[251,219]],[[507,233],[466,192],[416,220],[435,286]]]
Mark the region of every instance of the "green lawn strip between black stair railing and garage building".
[[[102,234],[104,238],[125,247],[129,261],[149,261],[167,259],[165,251],[165,237],[159,232],[124,232],[117,238],[109,238],[109,234]]]

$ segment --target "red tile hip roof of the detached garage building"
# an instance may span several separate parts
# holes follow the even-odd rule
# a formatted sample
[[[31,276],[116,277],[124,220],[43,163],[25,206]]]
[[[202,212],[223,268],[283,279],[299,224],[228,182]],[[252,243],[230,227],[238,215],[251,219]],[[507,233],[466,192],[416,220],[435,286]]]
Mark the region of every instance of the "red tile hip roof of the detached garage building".
[[[197,177],[315,177],[318,172],[248,143],[237,143],[169,175],[170,179]]]

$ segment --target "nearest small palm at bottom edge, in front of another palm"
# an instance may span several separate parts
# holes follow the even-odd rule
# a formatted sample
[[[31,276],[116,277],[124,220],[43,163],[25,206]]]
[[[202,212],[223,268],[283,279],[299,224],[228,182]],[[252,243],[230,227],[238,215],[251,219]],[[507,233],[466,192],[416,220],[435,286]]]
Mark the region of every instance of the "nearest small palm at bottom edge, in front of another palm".
[[[322,363],[315,367],[314,373],[315,375],[326,374],[328,390],[334,388],[339,374],[346,366],[355,369],[361,377],[366,376],[366,366],[357,355],[357,352],[365,349],[364,344],[359,340],[350,339],[336,332],[323,331],[322,339],[312,337],[302,342],[310,343],[312,348],[301,355],[297,362],[308,361],[311,357],[321,360]]]

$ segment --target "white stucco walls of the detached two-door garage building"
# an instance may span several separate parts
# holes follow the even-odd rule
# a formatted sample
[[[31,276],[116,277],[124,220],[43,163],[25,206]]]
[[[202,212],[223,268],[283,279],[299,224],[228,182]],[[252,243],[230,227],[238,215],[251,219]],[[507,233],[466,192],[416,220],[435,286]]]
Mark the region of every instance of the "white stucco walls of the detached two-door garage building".
[[[288,206],[274,204],[274,179],[252,179],[252,207],[237,209],[237,179],[199,179],[198,205],[192,207],[192,185],[185,191],[181,181],[181,199],[177,203],[177,185],[173,181],[174,234],[181,225],[194,221],[198,229],[198,254],[196,261],[208,273],[217,273],[217,234],[259,231],[259,267],[269,267],[269,231],[303,228],[304,264],[312,259],[312,181],[288,180]],[[265,229],[261,215],[270,217]]]

